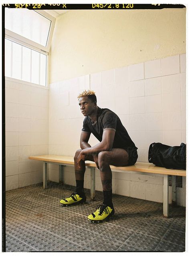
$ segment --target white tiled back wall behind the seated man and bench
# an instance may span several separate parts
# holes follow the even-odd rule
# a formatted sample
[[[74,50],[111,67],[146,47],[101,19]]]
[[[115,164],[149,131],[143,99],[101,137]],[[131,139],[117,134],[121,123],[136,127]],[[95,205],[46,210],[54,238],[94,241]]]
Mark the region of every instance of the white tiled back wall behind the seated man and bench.
[[[83,116],[77,95],[89,88],[96,92],[98,106],[120,117],[138,147],[137,161],[148,162],[152,142],[171,146],[186,143],[185,61],[182,54],[50,84],[49,154],[74,156],[79,148]],[[89,143],[98,141],[91,135]],[[73,170],[65,168],[65,183],[75,185]],[[59,180],[58,168],[50,168],[50,177]],[[90,188],[89,169],[84,184]],[[119,195],[162,202],[162,188],[161,176],[113,172],[113,193]],[[102,190],[99,170],[96,190]],[[185,188],[178,190],[178,204],[185,206]],[[171,198],[170,189],[170,203]]]

